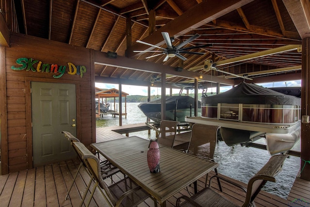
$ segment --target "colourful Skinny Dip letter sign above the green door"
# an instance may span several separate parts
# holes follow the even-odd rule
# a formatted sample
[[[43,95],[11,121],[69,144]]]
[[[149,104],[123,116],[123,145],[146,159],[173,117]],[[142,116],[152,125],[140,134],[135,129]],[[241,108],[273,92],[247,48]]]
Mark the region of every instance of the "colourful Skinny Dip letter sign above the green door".
[[[60,78],[67,69],[67,66],[57,64],[48,64],[42,63],[42,61],[35,60],[32,58],[19,58],[16,59],[16,64],[21,65],[20,67],[11,66],[12,70],[15,71],[32,71],[32,72],[41,72],[41,73],[54,73],[54,78]],[[83,65],[75,66],[73,63],[68,62],[68,70],[67,73],[70,75],[79,75],[83,77],[83,74],[86,73],[86,67]],[[56,75],[58,74],[58,75]]]

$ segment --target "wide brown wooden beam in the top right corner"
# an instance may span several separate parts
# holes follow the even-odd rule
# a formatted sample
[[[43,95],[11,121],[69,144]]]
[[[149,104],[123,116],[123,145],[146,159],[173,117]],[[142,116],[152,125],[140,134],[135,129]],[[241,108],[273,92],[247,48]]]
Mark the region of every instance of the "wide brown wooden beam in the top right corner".
[[[294,25],[302,39],[310,37],[310,1],[283,0]]]

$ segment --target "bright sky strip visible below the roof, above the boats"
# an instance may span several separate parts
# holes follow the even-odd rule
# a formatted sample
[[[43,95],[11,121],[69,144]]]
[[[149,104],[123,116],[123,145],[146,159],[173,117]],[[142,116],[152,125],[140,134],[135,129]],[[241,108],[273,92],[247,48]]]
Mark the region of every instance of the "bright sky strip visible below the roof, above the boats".
[[[272,83],[263,83],[257,84],[263,86],[265,88],[275,88],[275,87],[300,87],[301,80],[294,80],[294,81],[286,81],[286,82],[272,82]],[[95,87],[100,89],[118,89],[118,84],[106,84],[106,83],[95,83]],[[225,92],[232,87],[221,87],[220,92]],[[128,93],[129,95],[142,95],[147,96],[147,87],[142,86],[130,86],[130,85],[122,85],[122,91]],[[172,93],[179,93],[179,89],[172,89]],[[193,91],[189,91],[189,93],[193,93]],[[199,93],[202,90],[198,91]],[[209,88],[207,92],[216,92],[216,88]],[[166,93],[170,93],[170,89],[166,89]],[[161,95],[161,89],[156,87],[151,87],[151,95]]]

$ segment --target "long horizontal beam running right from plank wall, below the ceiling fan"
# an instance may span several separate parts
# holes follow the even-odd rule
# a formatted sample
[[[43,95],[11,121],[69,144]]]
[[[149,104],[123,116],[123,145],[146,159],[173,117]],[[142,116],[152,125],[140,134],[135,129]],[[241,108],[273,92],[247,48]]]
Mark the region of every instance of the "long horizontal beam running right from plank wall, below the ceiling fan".
[[[211,75],[200,74],[197,72],[190,72],[183,70],[182,72],[175,71],[174,67],[168,65],[157,64],[153,62],[147,62],[138,59],[129,59],[126,57],[118,56],[116,59],[109,59],[107,53],[95,51],[95,63],[101,65],[108,65],[112,67],[119,67],[131,70],[146,71],[151,73],[167,73],[172,75],[177,75],[186,78],[198,78],[205,81],[213,81],[226,85],[233,85],[233,80],[225,78],[217,78],[216,76],[211,77]],[[203,76],[203,77],[200,77]]]

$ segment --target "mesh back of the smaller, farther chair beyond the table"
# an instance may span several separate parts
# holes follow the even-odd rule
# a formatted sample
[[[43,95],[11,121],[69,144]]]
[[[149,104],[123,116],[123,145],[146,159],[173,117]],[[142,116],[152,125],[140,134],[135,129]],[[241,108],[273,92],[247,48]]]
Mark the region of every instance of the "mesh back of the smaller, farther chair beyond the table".
[[[179,121],[162,120],[157,136],[158,144],[172,148]]]

